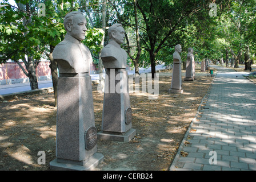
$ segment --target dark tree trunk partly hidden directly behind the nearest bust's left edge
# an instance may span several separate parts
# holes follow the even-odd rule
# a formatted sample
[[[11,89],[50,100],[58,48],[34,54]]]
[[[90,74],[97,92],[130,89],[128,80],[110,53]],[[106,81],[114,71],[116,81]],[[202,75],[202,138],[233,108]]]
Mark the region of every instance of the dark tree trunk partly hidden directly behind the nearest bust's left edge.
[[[51,80],[53,80],[53,90],[54,90],[54,106],[57,106],[57,85],[58,85],[58,64],[53,60],[53,49],[54,46],[50,46],[50,54],[48,55],[51,64],[49,65],[51,69]]]

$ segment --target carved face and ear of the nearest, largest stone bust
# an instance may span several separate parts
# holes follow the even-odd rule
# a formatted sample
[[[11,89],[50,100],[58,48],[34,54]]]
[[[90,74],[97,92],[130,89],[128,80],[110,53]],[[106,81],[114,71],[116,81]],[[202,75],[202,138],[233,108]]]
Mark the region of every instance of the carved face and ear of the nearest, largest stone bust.
[[[73,24],[67,23],[67,30],[73,38],[77,40],[85,39],[86,19],[82,14],[77,14],[73,18]]]

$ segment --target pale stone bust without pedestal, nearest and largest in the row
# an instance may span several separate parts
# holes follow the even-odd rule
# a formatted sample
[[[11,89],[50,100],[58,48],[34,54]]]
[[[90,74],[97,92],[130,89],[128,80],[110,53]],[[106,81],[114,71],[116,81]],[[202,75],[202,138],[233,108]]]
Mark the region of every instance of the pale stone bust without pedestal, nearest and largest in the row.
[[[93,62],[89,48],[81,43],[85,39],[86,19],[79,11],[65,16],[64,27],[67,31],[65,39],[53,51],[53,59],[57,61],[59,73],[87,73]]]

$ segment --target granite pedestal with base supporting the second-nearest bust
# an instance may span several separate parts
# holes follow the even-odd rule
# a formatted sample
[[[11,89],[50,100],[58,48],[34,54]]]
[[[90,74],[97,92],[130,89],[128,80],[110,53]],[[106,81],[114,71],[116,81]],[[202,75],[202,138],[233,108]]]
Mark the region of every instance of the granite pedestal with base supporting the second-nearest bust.
[[[125,69],[106,69],[102,111],[102,131],[98,139],[129,142],[136,134],[131,129],[128,75]]]

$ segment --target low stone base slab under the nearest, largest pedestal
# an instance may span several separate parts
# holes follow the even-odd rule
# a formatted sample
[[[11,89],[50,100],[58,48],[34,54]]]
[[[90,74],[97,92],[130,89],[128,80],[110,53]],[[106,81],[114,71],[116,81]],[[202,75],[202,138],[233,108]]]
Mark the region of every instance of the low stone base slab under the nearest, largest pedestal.
[[[50,162],[50,169],[55,171],[91,171],[102,162],[104,156],[95,153],[87,160],[74,161],[66,159],[54,159]]]

